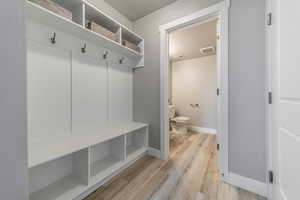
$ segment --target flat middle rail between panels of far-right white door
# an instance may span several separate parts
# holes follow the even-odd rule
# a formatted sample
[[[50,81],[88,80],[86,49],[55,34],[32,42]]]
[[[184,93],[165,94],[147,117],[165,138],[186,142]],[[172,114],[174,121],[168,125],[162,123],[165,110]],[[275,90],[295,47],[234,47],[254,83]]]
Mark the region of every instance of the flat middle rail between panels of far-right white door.
[[[300,102],[281,101],[280,126],[300,136]]]

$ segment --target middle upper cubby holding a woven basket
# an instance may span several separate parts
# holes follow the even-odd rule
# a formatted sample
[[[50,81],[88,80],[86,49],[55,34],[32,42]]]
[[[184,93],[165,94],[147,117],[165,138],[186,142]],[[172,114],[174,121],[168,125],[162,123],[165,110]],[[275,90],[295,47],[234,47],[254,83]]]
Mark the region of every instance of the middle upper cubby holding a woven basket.
[[[88,2],[85,2],[85,21],[87,29],[114,42],[121,42],[120,24]]]

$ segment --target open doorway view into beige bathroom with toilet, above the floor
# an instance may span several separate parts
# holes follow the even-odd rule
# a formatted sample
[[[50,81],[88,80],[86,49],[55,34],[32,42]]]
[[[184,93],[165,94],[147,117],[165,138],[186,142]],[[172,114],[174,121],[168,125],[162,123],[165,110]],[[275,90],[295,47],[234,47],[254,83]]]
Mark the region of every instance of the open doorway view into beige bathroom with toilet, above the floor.
[[[217,26],[211,18],[169,34],[170,154],[193,134],[217,134]]]

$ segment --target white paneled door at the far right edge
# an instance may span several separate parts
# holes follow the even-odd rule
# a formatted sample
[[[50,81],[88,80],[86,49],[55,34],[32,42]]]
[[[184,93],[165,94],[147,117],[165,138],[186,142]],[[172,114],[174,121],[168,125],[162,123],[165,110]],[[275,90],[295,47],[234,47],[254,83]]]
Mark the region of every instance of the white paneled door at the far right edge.
[[[300,1],[273,0],[274,198],[300,197]]]

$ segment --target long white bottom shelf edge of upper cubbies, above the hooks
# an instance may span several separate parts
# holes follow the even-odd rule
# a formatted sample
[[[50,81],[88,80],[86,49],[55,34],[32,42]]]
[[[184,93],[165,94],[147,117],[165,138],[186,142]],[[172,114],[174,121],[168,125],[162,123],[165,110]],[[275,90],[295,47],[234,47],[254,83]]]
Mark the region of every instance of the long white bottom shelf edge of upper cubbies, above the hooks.
[[[35,3],[25,0],[25,10],[26,16],[38,21],[42,24],[53,26],[59,30],[70,33],[77,36],[83,40],[92,42],[94,44],[100,45],[104,48],[110,49],[115,52],[119,52],[124,56],[128,56],[132,59],[141,60],[143,58],[142,53],[138,53],[131,50],[118,42],[109,40],[100,34],[88,30],[82,25],[79,25],[69,19],[61,17]],[[121,26],[124,27],[124,26]],[[124,27],[126,28],[126,27]],[[126,28],[127,29],[127,28]],[[127,29],[128,30],[128,29]],[[135,34],[136,35],[136,34]],[[139,36],[138,36],[139,37]]]

